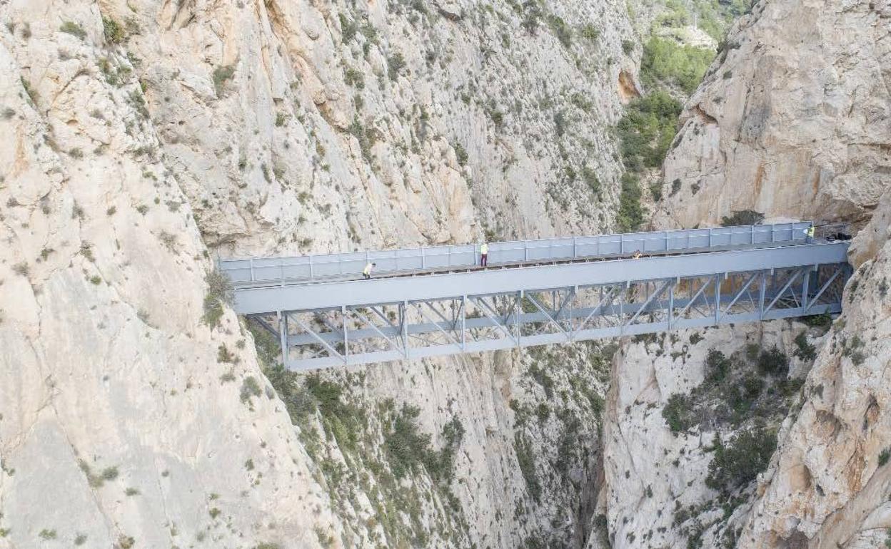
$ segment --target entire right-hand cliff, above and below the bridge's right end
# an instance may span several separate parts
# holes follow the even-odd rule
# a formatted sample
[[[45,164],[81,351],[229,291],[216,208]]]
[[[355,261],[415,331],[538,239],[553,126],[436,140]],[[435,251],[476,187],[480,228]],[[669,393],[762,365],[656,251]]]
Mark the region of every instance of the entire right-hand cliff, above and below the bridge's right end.
[[[616,452],[605,448],[604,498],[612,512],[607,516],[613,546],[638,546],[642,536],[662,546],[887,544],[891,449],[884,375],[891,352],[882,342],[891,303],[885,267],[891,199],[888,16],[887,3],[757,3],[738,20],[687,102],[663,166],[665,198],[655,226],[746,217],[846,222],[853,230],[862,228],[850,254],[858,269],[846,287],[846,311],[831,327],[761,327],[759,348],[776,342],[787,358],[796,357],[789,380],[801,379],[801,389],[790,394],[788,415],[773,408],[773,419],[758,421],[764,409],[756,407],[750,417],[758,423],[722,426],[719,415],[705,424],[693,421],[691,429],[685,413],[721,410],[703,397],[714,394],[708,372],[722,362],[709,355],[697,360],[696,351],[683,349],[693,359],[673,373],[669,365],[649,369],[666,358],[641,356],[640,346],[623,353],[614,379],[625,383],[611,390],[605,428],[607,436],[619,437]],[[804,334],[791,346],[789,328]],[[785,343],[783,333],[789,334]],[[725,328],[713,334],[730,338],[713,347],[724,352],[734,353],[752,339]],[[697,346],[710,343],[704,337]],[[661,343],[662,348],[672,347]],[[745,360],[731,358],[732,364]],[[789,390],[788,382],[772,385],[774,391]],[[735,391],[730,394],[738,399]],[[647,402],[655,408],[642,406]],[[659,408],[661,418],[654,413]],[[681,440],[671,436],[673,424],[682,427],[675,433]],[[774,444],[774,435],[772,456],[736,451]],[[666,460],[681,450],[687,457],[674,462],[681,470],[663,472]],[[624,486],[628,464],[651,453],[666,459],[630,468],[635,486],[657,499],[656,528],[645,531],[649,524],[634,520],[640,502],[649,504],[641,489],[627,495],[609,487]],[[722,489],[716,472],[732,463],[740,474],[747,472],[745,464],[758,465],[740,476],[746,481]],[[673,510],[671,521],[663,518],[667,510]]]

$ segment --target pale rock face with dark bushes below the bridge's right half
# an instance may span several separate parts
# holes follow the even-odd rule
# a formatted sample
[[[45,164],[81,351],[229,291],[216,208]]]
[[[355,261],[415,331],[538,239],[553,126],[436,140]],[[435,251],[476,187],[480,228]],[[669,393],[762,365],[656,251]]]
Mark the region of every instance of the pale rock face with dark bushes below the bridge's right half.
[[[789,379],[800,380],[813,360],[797,356],[796,337],[820,344],[819,333],[789,321],[756,325],[681,330],[650,341],[625,342],[613,362],[613,383],[606,403],[603,429],[603,475],[600,505],[612,547],[676,547],[699,539],[703,546],[722,547],[741,528],[751,505],[754,486],[740,490],[739,500],[721,505],[719,490],[707,478],[715,459],[715,440],[728,443],[753,427],[751,409],[765,418],[785,414],[783,398],[775,391],[781,380],[764,377],[757,360],[746,359],[752,349],[776,350],[789,359]],[[720,351],[723,359],[738,361],[741,379],[716,382],[708,357]],[[721,408],[726,395],[748,380],[764,384],[757,404],[739,418],[728,419]],[[664,410],[678,395],[688,397],[709,384],[724,383],[714,398],[692,398],[683,405],[695,420],[689,429],[672,432]],[[796,383],[793,381],[793,383]],[[797,382],[800,383],[800,382]],[[688,397],[689,398],[689,397]],[[796,396],[786,399],[789,404]],[[773,416],[774,419],[777,416]],[[757,422],[754,423],[756,425]],[[773,425],[780,436],[788,426]],[[599,545],[589,545],[592,549]]]

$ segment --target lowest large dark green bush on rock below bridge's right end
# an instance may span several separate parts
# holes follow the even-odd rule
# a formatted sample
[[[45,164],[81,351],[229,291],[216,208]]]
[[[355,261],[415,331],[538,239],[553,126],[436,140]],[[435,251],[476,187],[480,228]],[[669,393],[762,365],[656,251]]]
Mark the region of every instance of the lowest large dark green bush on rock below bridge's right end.
[[[726,446],[715,436],[715,458],[708,464],[707,487],[726,493],[755,480],[776,445],[776,432],[764,428],[740,432]]]

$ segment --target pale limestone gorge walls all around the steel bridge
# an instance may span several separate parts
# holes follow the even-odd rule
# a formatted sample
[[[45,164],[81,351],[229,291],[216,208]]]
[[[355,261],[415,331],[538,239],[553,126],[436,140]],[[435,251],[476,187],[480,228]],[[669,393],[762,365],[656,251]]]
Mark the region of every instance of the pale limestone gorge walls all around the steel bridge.
[[[875,209],[825,335],[289,376],[231,311],[208,317],[217,254],[614,227],[610,128],[658,11],[634,7],[0,6],[0,547],[883,543],[887,3],[756,4],[688,101],[654,205],[657,227]],[[795,358],[805,332],[815,362]],[[753,343],[803,388],[725,516],[706,505],[712,435],[740,424],[675,434],[662,409],[708,351],[744,367]]]

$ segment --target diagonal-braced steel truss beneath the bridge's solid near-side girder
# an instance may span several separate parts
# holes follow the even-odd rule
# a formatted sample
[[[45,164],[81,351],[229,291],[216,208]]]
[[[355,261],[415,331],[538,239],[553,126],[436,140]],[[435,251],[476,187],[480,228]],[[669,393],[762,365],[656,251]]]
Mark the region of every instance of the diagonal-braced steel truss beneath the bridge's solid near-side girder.
[[[841,311],[847,263],[249,315],[292,370]]]

